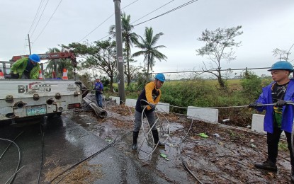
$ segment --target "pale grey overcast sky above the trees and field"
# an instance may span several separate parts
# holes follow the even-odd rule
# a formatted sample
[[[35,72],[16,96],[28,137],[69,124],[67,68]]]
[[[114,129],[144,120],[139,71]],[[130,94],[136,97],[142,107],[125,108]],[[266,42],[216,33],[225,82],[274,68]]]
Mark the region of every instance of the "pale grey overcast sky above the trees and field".
[[[120,8],[130,15],[131,23],[135,21],[135,25],[189,0],[170,1],[121,0]],[[44,0],[36,16],[40,2],[41,0],[0,1],[0,60],[7,61],[13,55],[29,54],[28,33],[30,42],[33,42],[32,52],[41,54],[60,44],[82,43],[86,40],[93,42],[104,38],[108,35],[109,26],[115,23],[112,0],[63,0],[61,3],[60,0]],[[57,8],[58,4],[60,6]],[[164,4],[167,5],[159,8]],[[154,11],[157,8],[159,10]],[[150,13],[152,11],[154,12]],[[145,16],[148,13],[150,14]],[[143,16],[145,17],[142,18]],[[138,20],[139,18],[142,19]],[[208,62],[208,58],[197,56],[195,51],[204,45],[197,40],[203,30],[232,28],[237,25],[243,27],[244,33],[236,38],[237,41],[242,41],[242,45],[235,50],[237,59],[230,63],[223,61],[222,68],[271,67],[278,60],[273,57],[272,50],[280,48],[288,51],[294,43],[294,1],[199,0],[137,25],[133,31],[143,36],[145,27],[152,27],[154,34],[164,33],[157,44],[166,46],[159,51],[168,59],[166,62],[157,62],[154,72],[191,71],[199,70],[203,62]],[[135,50],[133,48],[132,52]],[[290,59],[294,59],[294,47],[291,51],[293,54]],[[143,63],[142,58],[135,59]]]

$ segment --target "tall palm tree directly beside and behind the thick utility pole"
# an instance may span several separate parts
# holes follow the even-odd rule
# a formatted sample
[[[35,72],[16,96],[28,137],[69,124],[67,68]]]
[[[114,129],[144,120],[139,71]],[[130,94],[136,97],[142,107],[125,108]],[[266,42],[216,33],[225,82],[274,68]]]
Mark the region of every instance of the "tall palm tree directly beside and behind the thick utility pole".
[[[136,33],[132,33],[133,25],[130,24],[130,15],[126,16],[125,13],[121,15],[121,25],[122,25],[122,38],[123,43],[125,43],[125,51],[127,52],[127,78],[128,78],[128,86],[130,86],[131,79],[131,71],[130,71],[130,47],[132,44],[137,44],[138,35]],[[111,25],[109,28],[109,34],[115,36],[115,25]]]

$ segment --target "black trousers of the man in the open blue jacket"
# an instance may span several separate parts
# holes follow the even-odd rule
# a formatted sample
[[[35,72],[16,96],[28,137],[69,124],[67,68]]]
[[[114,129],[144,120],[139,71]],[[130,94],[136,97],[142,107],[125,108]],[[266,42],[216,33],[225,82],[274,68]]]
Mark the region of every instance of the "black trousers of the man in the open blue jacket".
[[[268,159],[273,163],[276,163],[276,158],[278,156],[278,142],[280,141],[282,132],[283,130],[281,130],[281,128],[274,127],[272,134],[267,133]],[[287,137],[288,149],[290,151],[290,162],[291,165],[294,166],[294,157],[291,147],[291,134],[289,132],[285,132],[285,137]]]

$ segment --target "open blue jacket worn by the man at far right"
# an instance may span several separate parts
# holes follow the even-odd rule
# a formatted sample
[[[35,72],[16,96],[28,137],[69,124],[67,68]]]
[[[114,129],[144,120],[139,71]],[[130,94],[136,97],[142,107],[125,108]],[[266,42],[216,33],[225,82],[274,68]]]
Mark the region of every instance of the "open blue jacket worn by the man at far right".
[[[259,99],[256,100],[256,103],[263,103],[263,104],[273,103],[273,100],[271,98],[271,86],[274,83],[275,82],[272,82],[268,86],[262,88],[262,93],[259,96]],[[290,82],[285,91],[284,100],[294,101],[294,79],[290,79]],[[264,131],[273,133],[273,123],[274,123],[273,105],[259,106],[256,108],[256,110],[258,110],[259,112],[266,110],[266,115],[264,117]],[[292,124],[294,119],[293,110],[294,110],[293,105],[283,106],[283,119],[282,119],[281,130],[284,130],[289,133],[292,132]]]

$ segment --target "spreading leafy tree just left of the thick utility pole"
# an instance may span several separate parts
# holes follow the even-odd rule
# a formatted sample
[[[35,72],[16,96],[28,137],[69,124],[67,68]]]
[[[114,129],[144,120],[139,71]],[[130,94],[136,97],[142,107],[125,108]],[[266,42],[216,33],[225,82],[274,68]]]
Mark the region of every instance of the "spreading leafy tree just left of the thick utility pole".
[[[111,38],[108,38],[105,41],[86,44],[73,42],[64,47],[74,49],[74,53],[85,58],[84,62],[81,62],[81,68],[104,71],[111,79],[110,90],[113,91],[113,76],[116,72],[115,41],[111,41]]]

